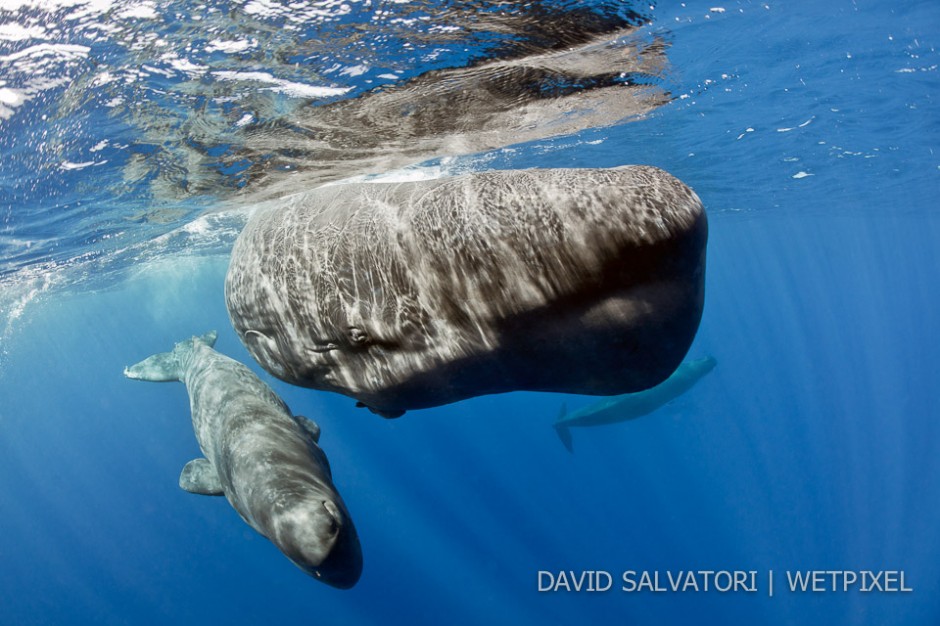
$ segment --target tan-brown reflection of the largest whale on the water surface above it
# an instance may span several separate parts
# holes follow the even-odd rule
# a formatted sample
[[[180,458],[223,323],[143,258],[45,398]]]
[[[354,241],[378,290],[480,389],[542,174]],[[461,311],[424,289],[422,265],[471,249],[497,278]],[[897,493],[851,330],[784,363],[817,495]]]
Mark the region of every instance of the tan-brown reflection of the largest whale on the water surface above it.
[[[662,41],[642,44],[627,28],[578,46],[435,70],[401,85],[298,112],[291,124],[248,133],[243,144],[262,196],[296,191],[297,169],[313,183],[379,173],[569,135],[649,113],[669,101],[656,77]],[[270,156],[274,155],[274,156]],[[281,184],[277,184],[280,182]]]

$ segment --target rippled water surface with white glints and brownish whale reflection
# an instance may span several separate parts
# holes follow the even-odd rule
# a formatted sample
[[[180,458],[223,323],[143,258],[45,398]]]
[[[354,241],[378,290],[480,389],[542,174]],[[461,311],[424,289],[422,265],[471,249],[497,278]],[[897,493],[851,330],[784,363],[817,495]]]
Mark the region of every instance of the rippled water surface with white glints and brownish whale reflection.
[[[0,134],[17,197],[36,207],[9,217],[16,237],[0,233],[0,277],[81,264],[81,280],[165,252],[224,253],[258,201],[485,159],[671,98],[669,35],[648,28],[646,4],[250,5],[155,6],[174,25],[159,38],[152,20],[36,7],[66,45],[0,41],[0,119],[41,108],[52,124]],[[49,219],[70,227],[50,238]]]

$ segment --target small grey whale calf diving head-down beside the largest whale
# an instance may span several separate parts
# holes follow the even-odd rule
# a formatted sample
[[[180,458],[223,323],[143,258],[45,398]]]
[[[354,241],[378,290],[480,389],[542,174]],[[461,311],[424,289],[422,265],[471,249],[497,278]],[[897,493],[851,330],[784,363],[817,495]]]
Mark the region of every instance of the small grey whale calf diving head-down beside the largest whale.
[[[212,349],[214,332],[124,370],[128,378],[186,384],[205,458],[186,464],[180,487],[222,495],[249,526],[298,567],[349,588],[362,572],[359,537],[317,445],[320,428],[295,416],[247,367]]]

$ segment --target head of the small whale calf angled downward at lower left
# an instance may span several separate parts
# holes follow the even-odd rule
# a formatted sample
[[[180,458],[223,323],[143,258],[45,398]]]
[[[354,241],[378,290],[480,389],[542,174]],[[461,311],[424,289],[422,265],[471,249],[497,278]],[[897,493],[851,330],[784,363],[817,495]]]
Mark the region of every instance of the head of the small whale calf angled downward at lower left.
[[[362,548],[342,503],[304,499],[272,520],[271,540],[300,569],[339,589],[362,574]]]

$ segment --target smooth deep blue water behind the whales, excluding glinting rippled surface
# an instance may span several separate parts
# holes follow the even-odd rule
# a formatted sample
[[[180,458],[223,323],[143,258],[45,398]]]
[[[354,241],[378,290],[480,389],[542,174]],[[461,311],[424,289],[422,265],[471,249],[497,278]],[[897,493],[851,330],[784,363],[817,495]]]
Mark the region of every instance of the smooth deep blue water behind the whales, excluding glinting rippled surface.
[[[2,346],[0,622],[940,623],[940,9],[687,5],[661,3],[653,28],[688,97],[493,163],[644,162],[695,188],[711,233],[690,356],[712,374],[653,416],[575,430],[573,455],[551,422],[588,398],[384,421],[272,382],[320,423],[362,538],[341,592],[180,491],[198,455],[184,388],[121,375],[211,328],[255,366],[226,259],[54,294]],[[756,569],[761,592],[539,593],[543,569]],[[790,594],[796,569],[903,570],[914,591]]]

